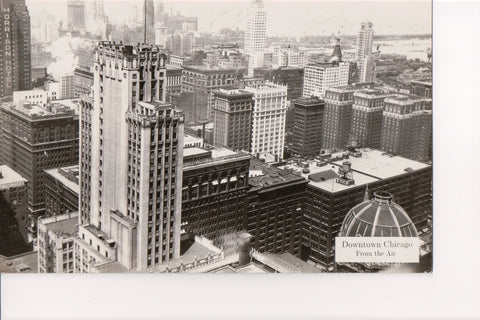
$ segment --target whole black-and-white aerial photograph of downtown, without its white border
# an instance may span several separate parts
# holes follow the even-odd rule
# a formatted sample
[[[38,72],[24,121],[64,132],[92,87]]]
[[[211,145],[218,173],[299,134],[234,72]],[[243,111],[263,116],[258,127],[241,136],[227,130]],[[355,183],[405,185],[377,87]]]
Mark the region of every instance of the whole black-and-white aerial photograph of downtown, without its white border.
[[[1,273],[431,273],[432,2],[0,0]]]

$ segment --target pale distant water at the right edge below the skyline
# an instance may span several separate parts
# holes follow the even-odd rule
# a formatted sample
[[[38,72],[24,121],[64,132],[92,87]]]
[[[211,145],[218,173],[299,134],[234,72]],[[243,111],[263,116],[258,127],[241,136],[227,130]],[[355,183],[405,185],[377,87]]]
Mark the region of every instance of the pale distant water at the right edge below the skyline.
[[[432,48],[431,39],[412,38],[408,40],[380,40],[373,42],[373,50],[380,45],[380,52],[385,54],[400,54],[407,59],[420,59],[428,61],[427,49]]]

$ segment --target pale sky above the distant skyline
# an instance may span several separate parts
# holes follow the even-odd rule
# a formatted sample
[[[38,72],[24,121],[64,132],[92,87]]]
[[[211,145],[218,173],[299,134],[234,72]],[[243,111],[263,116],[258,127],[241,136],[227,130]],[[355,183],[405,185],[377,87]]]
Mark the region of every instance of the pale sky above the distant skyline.
[[[88,1],[88,0],[87,0]],[[166,0],[165,10],[197,16],[200,32],[222,28],[245,29],[250,0]],[[66,19],[67,0],[27,0],[32,19],[41,19],[42,9]],[[142,0],[104,0],[105,13],[115,23],[129,21],[134,6]],[[371,21],[375,34],[431,33],[432,3],[428,0],[335,1],[264,0],[268,36],[354,35],[361,22]]]

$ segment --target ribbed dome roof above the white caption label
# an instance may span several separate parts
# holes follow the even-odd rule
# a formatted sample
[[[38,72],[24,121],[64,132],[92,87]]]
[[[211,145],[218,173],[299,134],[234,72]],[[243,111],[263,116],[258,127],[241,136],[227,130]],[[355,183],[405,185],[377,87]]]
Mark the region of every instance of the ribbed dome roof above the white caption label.
[[[417,229],[407,212],[388,192],[353,207],[345,216],[341,237],[416,237]]]

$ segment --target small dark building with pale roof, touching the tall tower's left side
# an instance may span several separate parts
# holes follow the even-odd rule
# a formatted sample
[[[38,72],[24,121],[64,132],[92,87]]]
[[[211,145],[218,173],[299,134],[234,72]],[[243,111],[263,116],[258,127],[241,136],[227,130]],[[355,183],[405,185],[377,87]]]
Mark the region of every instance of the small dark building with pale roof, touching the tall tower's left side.
[[[78,165],[45,170],[45,215],[78,211]]]

